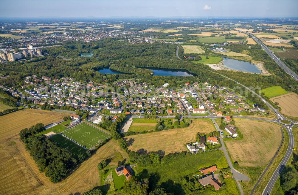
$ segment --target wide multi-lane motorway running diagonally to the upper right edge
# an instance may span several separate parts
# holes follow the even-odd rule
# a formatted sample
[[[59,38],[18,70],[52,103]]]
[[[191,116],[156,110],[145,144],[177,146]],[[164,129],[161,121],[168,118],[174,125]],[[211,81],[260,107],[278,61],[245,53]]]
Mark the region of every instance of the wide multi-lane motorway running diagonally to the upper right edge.
[[[236,29],[233,29],[235,31],[238,31]],[[286,73],[288,73],[291,77],[293,77],[295,80],[298,80],[298,75],[293,72],[288,66],[286,66],[280,59],[278,59],[277,56],[274,55],[274,53],[268,49],[268,47],[263,44],[257,37],[255,37],[253,34],[250,34],[250,33],[246,33],[244,31],[239,31],[239,32],[242,32],[242,33],[245,33],[247,35],[250,35],[255,42],[257,42],[259,45],[262,46],[262,48],[266,51],[266,53],[268,53],[268,55],[282,68],[285,70]]]

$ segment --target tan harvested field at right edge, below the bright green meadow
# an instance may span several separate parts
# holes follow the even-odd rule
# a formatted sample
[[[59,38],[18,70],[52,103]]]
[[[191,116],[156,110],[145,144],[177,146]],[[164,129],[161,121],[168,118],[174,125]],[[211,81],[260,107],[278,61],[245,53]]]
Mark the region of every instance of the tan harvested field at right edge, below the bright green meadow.
[[[279,103],[281,113],[288,116],[298,117],[298,95],[294,92],[270,98],[270,101]]]

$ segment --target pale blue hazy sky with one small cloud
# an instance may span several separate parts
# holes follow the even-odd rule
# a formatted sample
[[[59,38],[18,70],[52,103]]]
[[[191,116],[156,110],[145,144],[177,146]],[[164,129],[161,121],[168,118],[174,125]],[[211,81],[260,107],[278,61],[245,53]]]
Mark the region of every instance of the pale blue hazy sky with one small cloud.
[[[0,17],[297,17],[298,0],[1,0]]]

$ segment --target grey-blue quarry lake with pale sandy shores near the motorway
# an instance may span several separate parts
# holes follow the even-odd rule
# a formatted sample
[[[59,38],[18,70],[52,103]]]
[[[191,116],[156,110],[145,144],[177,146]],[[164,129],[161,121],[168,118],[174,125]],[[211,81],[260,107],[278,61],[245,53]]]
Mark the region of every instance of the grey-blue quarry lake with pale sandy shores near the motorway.
[[[240,60],[233,60],[230,58],[223,58],[223,64],[229,69],[239,70],[243,72],[261,73],[256,65]]]

